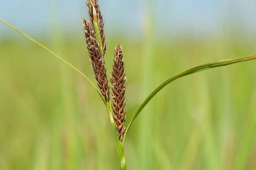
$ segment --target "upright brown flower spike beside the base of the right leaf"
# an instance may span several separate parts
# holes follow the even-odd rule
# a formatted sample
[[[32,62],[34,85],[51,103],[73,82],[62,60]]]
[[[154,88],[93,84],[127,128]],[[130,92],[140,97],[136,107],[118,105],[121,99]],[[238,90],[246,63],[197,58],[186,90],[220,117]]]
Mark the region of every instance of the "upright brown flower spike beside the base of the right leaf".
[[[124,111],[125,106],[125,74],[124,74],[124,61],[123,61],[123,53],[122,47],[120,45],[116,46],[115,56],[114,56],[114,65],[113,70],[111,72],[110,81],[112,83],[112,108],[113,108],[113,116],[116,123],[116,129],[118,132],[119,140],[122,141],[123,135],[125,132],[125,119],[126,119],[126,111]]]

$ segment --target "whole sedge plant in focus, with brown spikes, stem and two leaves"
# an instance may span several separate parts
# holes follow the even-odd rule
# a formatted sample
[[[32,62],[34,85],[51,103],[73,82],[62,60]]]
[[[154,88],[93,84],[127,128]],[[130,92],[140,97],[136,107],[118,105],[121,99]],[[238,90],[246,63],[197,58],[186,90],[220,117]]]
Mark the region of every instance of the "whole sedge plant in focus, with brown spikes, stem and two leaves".
[[[134,120],[138,117],[142,109],[150,102],[158,92],[160,92],[163,88],[165,88],[168,84],[182,78],[184,76],[188,76],[190,74],[194,74],[196,72],[201,72],[207,69],[227,66],[230,64],[240,63],[243,61],[250,61],[256,59],[256,55],[252,55],[249,57],[242,57],[236,59],[226,59],[213,63],[202,64],[179,74],[176,74],[166,81],[162,82],[155,90],[153,90],[148,97],[140,104],[138,109],[134,112],[132,119],[126,123],[126,111],[125,111],[125,82],[126,76],[124,72],[124,55],[122,52],[122,46],[117,45],[114,51],[114,60],[113,67],[110,76],[107,76],[106,66],[104,62],[104,55],[106,52],[106,37],[104,34],[104,21],[100,11],[100,7],[98,4],[98,0],[88,0],[87,1],[88,12],[89,12],[89,20],[84,19],[83,21],[83,29],[85,40],[87,43],[87,50],[89,54],[89,58],[92,65],[92,70],[94,72],[94,77],[97,82],[97,86],[90,80],[82,71],[76,68],[73,64],[64,60],[62,57],[48,49],[46,46],[42,45],[38,41],[34,40],[24,32],[20,31],[16,27],[12,26],[10,23],[0,19],[4,24],[8,27],[14,29],[18,33],[22,34],[24,37],[30,39],[49,53],[51,53],[54,57],[67,64],[81,74],[90,84],[94,87],[95,91],[99,94],[102,102],[106,106],[108,115],[110,117],[110,123],[112,125],[112,130],[114,133],[114,139],[116,143],[116,149],[118,153],[118,158],[120,161],[121,170],[126,170],[126,159],[124,155],[124,142],[126,136],[128,134],[129,129],[132,126]],[[109,81],[110,80],[110,81]],[[110,90],[111,89],[111,90]]]

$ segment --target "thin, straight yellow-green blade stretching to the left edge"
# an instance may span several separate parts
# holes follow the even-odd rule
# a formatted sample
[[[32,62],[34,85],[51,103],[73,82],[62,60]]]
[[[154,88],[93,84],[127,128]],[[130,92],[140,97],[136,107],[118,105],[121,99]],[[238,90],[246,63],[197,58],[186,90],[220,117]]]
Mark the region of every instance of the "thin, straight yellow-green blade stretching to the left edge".
[[[62,57],[58,56],[56,53],[54,53],[53,51],[51,51],[50,49],[48,49],[47,47],[45,47],[44,45],[42,45],[41,43],[39,43],[38,41],[36,41],[35,39],[31,38],[30,36],[28,36],[27,34],[25,34],[24,32],[20,31],[19,29],[17,29],[16,27],[12,26],[10,23],[2,20],[0,18],[0,21],[2,21],[4,24],[6,24],[8,27],[11,27],[12,29],[14,29],[15,31],[17,31],[18,33],[22,34],[24,37],[30,39],[31,41],[33,41],[34,43],[36,43],[37,45],[39,45],[40,47],[42,47],[43,49],[45,49],[46,51],[48,51],[49,53],[51,53],[54,57],[56,57],[57,59],[59,59],[60,61],[62,61],[63,63],[67,64],[68,66],[70,66],[73,70],[75,70],[76,72],[78,72],[79,74],[81,74],[86,80],[88,80],[88,82],[90,82],[90,84],[92,84],[92,86],[95,88],[95,90],[97,90],[98,94],[100,94],[100,97],[102,98],[105,106],[107,107],[107,103],[104,99],[104,97],[102,96],[101,92],[98,90],[98,88],[93,84],[93,82],[84,74],[82,73],[82,71],[80,71],[78,68],[76,68],[74,65],[72,65],[71,63],[69,63],[68,61],[64,60]]]

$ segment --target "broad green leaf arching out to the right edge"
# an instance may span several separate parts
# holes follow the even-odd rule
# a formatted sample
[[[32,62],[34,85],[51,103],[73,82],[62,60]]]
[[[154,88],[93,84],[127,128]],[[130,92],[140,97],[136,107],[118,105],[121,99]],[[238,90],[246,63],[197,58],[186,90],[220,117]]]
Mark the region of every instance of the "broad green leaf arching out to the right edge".
[[[221,66],[226,66],[226,65],[230,65],[230,64],[234,64],[234,63],[239,63],[239,62],[243,62],[243,61],[249,61],[249,60],[253,60],[256,59],[256,55],[250,56],[250,57],[243,57],[243,58],[236,58],[236,59],[227,59],[227,60],[221,60],[221,61],[217,61],[214,63],[208,63],[208,64],[203,64],[200,66],[196,66],[194,68],[190,68],[184,72],[181,72],[175,76],[172,76],[171,78],[168,78],[165,82],[163,82],[162,84],[160,84],[160,86],[158,86],[147,98],[146,100],[144,100],[144,102],[138,107],[138,109],[135,111],[132,120],[130,121],[128,127],[126,128],[126,132],[124,134],[124,139],[126,137],[126,134],[128,132],[128,130],[130,129],[130,126],[132,125],[133,121],[136,119],[136,117],[140,114],[140,112],[142,111],[142,109],[148,104],[148,102],[154,97],[156,96],[156,94],[158,92],[160,92],[165,86],[167,86],[170,82],[173,82],[174,80],[177,80],[178,78],[190,75],[190,74],[194,74],[196,72],[200,72],[200,71],[204,71],[204,70],[208,70],[211,68],[215,68],[215,67],[221,67]],[[123,143],[124,143],[124,139],[123,139]]]

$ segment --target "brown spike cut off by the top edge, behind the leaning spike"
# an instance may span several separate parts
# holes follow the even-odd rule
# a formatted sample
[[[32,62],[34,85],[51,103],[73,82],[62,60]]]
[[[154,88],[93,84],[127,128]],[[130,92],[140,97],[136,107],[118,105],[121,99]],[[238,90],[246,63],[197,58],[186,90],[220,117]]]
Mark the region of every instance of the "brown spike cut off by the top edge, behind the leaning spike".
[[[97,21],[98,21],[98,26],[99,26],[99,30],[100,30],[100,37],[101,37],[102,46],[103,46],[103,55],[105,55],[105,53],[106,53],[106,37],[105,37],[105,33],[104,33],[104,21],[103,21],[103,16],[100,11],[100,6],[98,4],[98,0],[88,0],[87,6],[88,6],[90,20],[92,23],[93,23],[92,7],[94,7],[96,10]]]

